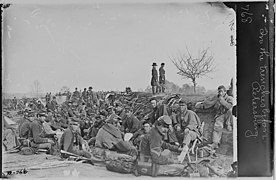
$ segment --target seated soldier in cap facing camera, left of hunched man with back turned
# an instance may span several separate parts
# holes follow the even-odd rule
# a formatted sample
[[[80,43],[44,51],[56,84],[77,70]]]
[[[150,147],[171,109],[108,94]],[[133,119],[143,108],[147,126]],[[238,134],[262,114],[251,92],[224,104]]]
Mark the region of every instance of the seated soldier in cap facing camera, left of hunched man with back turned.
[[[73,122],[61,136],[60,149],[79,156],[91,158],[91,154],[85,150],[85,141],[80,135],[80,128],[78,124]]]

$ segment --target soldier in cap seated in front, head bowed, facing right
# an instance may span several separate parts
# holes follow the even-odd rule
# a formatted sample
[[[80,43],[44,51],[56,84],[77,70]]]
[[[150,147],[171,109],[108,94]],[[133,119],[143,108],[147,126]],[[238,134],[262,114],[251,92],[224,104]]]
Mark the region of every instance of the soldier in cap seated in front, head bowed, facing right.
[[[154,164],[159,165],[174,163],[169,150],[177,152],[182,151],[182,148],[166,143],[163,140],[171,124],[172,120],[167,115],[158,118],[155,127],[151,128],[141,141],[140,157],[141,155],[148,156]]]

